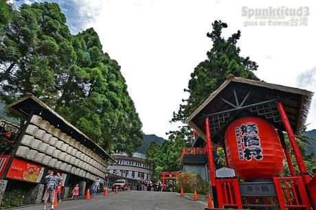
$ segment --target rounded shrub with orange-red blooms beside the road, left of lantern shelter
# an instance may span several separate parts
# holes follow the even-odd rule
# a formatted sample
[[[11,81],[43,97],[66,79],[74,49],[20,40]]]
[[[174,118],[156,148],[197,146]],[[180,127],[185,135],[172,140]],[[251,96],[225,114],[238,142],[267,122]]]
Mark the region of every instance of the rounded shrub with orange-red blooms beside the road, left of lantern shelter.
[[[203,180],[199,174],[194,172],[183,172],[179,175],[177,182],[177,191],[181,191],[183,188],[184,193],[193,193],[196,189],[196,193],[207,195],[210,193],[210,185],[207,181]]]

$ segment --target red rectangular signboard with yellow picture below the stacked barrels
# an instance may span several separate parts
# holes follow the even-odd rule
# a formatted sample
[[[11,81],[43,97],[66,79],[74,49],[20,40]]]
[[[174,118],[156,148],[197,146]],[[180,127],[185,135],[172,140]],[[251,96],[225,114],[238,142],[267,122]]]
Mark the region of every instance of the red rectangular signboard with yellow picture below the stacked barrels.
[[[45,167],[42,165],[23,161],[21,159],[14,159],[6,177],[31,183],[39,183],[44,170]]]

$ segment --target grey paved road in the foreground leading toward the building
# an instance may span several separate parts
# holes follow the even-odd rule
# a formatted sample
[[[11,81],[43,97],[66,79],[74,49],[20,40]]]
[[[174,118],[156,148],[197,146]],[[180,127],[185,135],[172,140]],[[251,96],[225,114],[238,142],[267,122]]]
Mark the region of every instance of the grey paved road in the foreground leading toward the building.
[[[111,209],[111,210],[164,210],[164,209],[204,209],[203,202],[183,198],[179,194],[151,191],[119,191],[109,196],[97,195],[91,200],[65,200],[56,207],[59,209]],[[19,208],[21,210],[41,210],[43,205]]]

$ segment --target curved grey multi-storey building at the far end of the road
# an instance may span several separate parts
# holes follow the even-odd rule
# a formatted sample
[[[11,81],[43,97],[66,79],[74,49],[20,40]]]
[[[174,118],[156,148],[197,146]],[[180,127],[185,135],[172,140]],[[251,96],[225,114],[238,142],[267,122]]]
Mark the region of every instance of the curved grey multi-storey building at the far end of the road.
[[[113,154],[116,163],[109,165],[108,172],[126,178],[135,178],[137,180],[151,180],[153,176],[153,166],[146,162],[146,156],[141,153],[133,153],[133,156],[127,154]]]

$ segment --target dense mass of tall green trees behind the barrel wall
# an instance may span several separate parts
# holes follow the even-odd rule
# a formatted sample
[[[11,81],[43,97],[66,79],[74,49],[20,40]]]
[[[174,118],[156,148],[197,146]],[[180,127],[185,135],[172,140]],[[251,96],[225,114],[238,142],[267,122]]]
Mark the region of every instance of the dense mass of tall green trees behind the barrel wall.
[[[0,21],[3,101],[32,93],[108,152],[137,150],[142,122],[120,66],[104,53],[93,28],[71,35],[58,4],[47,2],[23,4]]]

